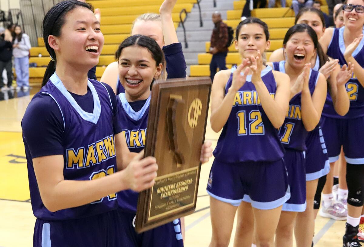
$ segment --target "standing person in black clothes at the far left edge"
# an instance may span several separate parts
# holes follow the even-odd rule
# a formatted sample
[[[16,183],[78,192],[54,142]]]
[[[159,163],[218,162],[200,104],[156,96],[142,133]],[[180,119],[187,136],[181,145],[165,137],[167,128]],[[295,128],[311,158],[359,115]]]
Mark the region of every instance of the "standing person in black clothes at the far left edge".
[[[11,86],[13,82],[12,64],[11,64],[12,52],[13,52],[12,43],[9,40],[5,40],[5,30],[4,28],[2,28],[2,30],[0,30],[0,71],[2,74],[5,68],[7,72],[8,85],[7,86],[4,85],[3,77],[0,76],[1,91],[13,89],[13,87]]]

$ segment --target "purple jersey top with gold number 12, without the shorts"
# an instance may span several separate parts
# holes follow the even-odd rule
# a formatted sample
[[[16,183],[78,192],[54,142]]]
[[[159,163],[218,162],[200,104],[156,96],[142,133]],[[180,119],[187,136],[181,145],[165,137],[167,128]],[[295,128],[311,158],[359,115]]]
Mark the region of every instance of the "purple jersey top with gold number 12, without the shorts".
[[[232,68],[232,72],[236,68]],[[272,68],[261,72],[262,81],[272,97],[277,85]],[[233,74],[225,86],[225,93],[232,85]],[[233,108],[223,127],[214,150],[215,159],[224,163],[246,161],[277,161],[284,156],[277,130],[264,113],[258,93],[248,75],[245,84],[236,92]]]

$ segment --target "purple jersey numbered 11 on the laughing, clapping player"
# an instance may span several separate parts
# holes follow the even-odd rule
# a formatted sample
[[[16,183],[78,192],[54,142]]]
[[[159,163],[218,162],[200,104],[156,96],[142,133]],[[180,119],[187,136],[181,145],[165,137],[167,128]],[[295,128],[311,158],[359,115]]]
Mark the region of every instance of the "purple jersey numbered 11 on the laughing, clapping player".
[[[285,61],[273,62],[273,69],[282,73],[286,73],[284,65]],[[315,90],[319,74],[319,72],[310,69],[308,87],[310,89],[311,95]],[[289,101],[289,108],[286,118],[278,133],[284,148],[298,151],[307,150],[305,140],[308,132],[305,129],[301,118],[301,93],[296,94]]]

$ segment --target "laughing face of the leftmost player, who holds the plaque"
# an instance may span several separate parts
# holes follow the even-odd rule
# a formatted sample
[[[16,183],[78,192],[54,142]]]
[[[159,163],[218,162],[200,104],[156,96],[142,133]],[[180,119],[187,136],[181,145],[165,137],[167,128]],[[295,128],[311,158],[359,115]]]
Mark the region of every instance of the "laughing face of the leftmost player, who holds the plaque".
[[[104,36],[94,13],[76,7],[64,17],[60,36],[50,35],[48,43],[55,50],[57,64],[66,62],[74,68],[91,69],[99,62]]]

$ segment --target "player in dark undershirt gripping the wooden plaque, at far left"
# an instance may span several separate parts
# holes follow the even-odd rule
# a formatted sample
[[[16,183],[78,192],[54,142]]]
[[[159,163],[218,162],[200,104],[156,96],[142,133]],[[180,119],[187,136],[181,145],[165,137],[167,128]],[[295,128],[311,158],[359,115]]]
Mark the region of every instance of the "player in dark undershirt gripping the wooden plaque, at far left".
[[[52,60],[21,123],[36,216],[33,246],[120,246],[126,233],[115,193],[150,188],[158,166],[142,154],[121,157],[126,145],[113,121],[115,94],[87,78],[104,44],[92,6],[56,4],[42,32]]]

